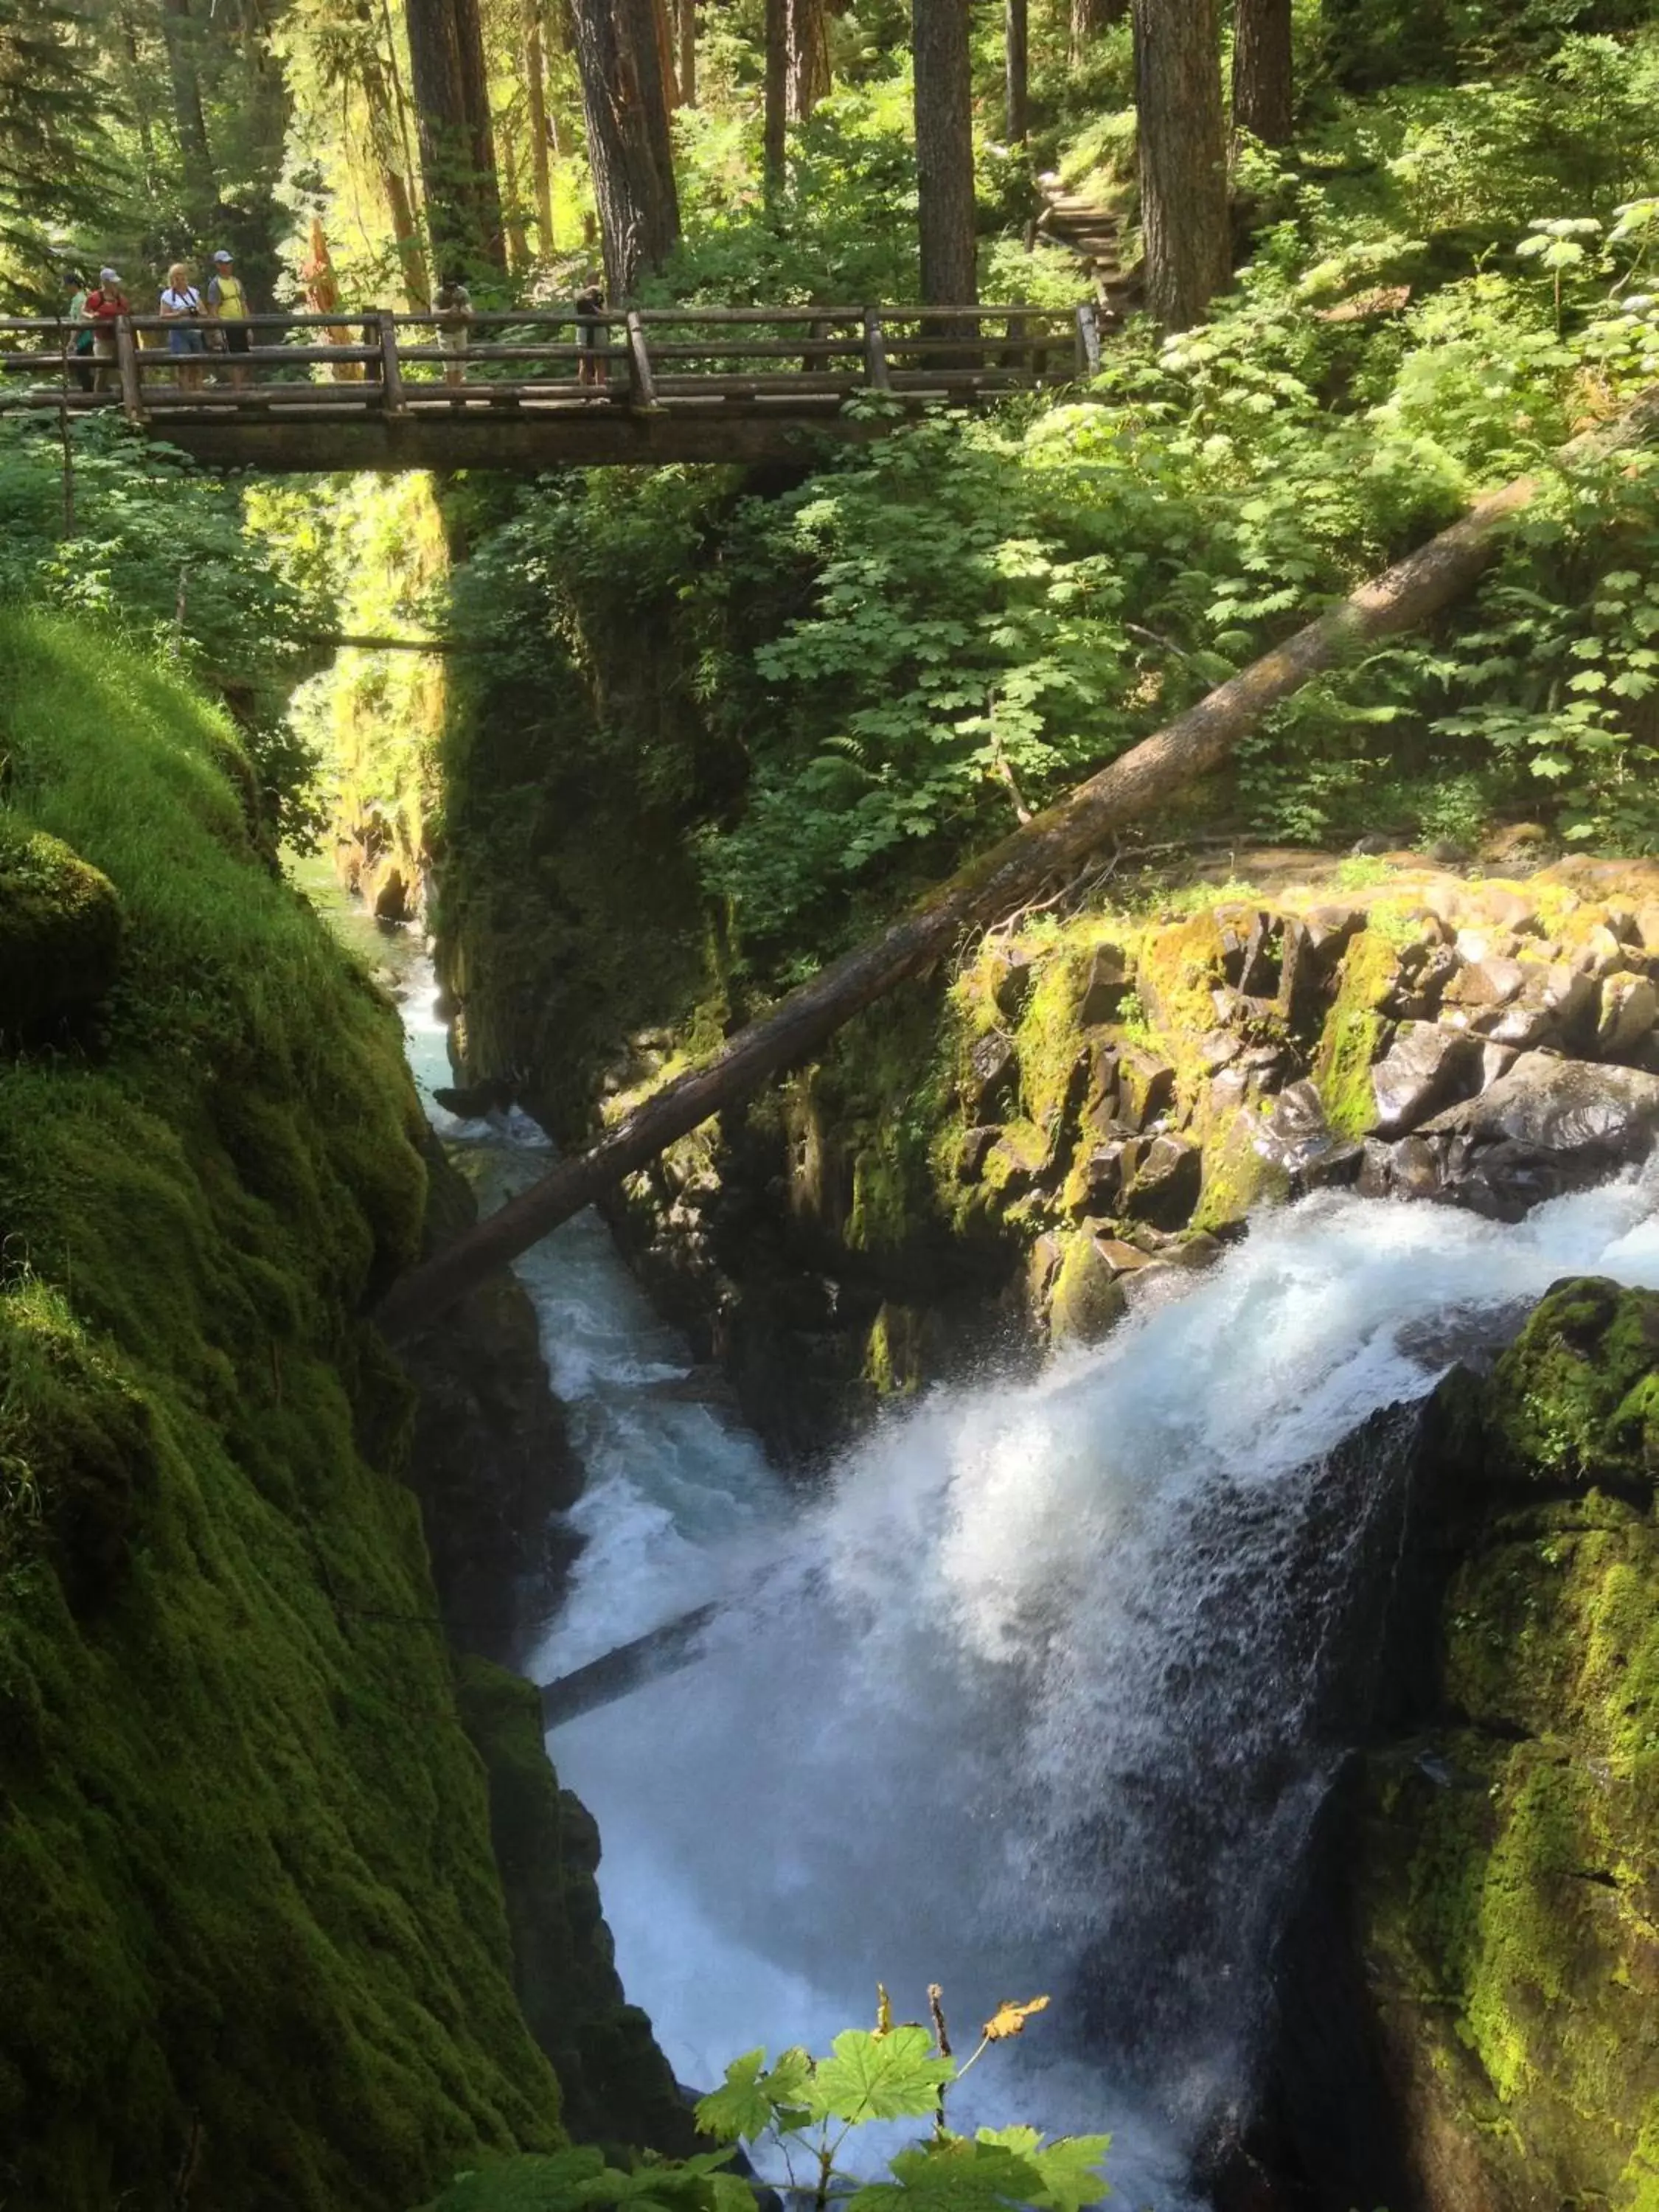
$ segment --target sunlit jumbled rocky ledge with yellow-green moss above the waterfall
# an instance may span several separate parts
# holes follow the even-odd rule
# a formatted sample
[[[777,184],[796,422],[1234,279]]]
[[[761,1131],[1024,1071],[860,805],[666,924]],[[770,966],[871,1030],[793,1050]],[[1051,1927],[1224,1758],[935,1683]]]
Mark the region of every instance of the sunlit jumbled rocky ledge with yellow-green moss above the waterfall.
[[[1659,863],[1402,854],[987,936],[619,1219],[785,1453],[987,1340],[1088,1343],[1256,1203],[1517,1219],[1659,1135]],[[606,1117],[672,1073],[641,1037]]]

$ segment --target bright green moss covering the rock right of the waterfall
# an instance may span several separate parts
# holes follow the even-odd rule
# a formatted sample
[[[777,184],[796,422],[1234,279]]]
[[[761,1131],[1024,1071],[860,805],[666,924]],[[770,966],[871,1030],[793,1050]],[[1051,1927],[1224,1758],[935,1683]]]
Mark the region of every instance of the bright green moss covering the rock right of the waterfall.
[[[1659,1296],[1584,1281],[1480,1389],[1440,1473],[1482,1502],[1442,1615],[1455,1781],[1376,1776],[1356,1867],[1418,2124],[1515,2201],[1632,2208],[1659,2172],[1657,1376]]]

